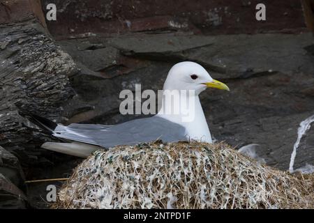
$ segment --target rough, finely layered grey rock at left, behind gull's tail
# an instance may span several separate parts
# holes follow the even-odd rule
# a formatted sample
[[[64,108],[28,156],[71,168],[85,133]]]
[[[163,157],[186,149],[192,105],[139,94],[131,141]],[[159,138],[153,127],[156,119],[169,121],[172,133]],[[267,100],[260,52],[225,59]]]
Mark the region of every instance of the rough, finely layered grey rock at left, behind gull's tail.
[[[29,134],[28,127],[34,126],[24,117],[58,118],[61,103],[74,94],[68,75],[77,68],[40,24],[26,22],[0,29],[0,144],[11,151],[21,150],[20,158],[33,163],[36,160],[31,157],[37,159],[38,155],[38,142],[33,140],[39,139],[40,133]],[[29,147],[26,153],[25,144]],[[36,150],[33,154],[29,153],[31,147]]]

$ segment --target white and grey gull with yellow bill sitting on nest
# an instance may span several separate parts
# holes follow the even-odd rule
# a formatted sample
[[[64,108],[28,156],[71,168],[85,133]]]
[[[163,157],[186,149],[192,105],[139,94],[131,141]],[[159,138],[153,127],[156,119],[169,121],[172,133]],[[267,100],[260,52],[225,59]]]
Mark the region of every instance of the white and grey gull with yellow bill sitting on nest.
[[[33,116],[33,121],[50,130],[54,137],[70,141],[46,142],[43,148],[77,157],[87,157],[100,148],[135,145],[156,139],[165,142],[193,139],[211,143],[211,133],[198,96],[208,87],[229,91],[227,85],[211,78],[202,66],[186,61],[175,64],[168,72],[163,86],[162,105],[155,116],[117,125],[73,123],[65,126],[39,116]],[[170,98],[174,98],[174,91],[179,92],[181,102],[169,102]],[[177,112],[174,112],[176,109]],[[187,114],[193,114],[190,120],[187,120]]]

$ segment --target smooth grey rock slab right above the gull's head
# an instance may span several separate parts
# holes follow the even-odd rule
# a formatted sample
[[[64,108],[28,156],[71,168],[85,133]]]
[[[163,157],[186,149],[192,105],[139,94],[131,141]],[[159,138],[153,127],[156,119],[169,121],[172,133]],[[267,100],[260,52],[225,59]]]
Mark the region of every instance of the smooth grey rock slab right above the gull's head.
[[[311,33],[240,34],[228,36],[155,36],[113,38],[108,43],[128,56],[161,61],[197,61],[223,79],[270,75],[274,72],[309,72]],[[293,63],[287,63],[293,61]]]

